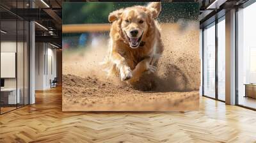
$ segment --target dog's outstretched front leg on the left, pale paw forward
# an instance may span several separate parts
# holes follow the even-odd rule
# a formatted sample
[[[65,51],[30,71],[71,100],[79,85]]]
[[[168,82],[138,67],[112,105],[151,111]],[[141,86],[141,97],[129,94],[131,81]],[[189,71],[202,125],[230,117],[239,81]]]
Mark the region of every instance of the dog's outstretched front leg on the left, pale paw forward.
[[[120,73],[121,80],[129,80],[132,78],[132,70],[128,66],[127,62],[125,61],[125,58],[121,56],[118,52],[112,53],[113,57],[113,63],[116,64],[116,68],[118,68],[118,71]]]

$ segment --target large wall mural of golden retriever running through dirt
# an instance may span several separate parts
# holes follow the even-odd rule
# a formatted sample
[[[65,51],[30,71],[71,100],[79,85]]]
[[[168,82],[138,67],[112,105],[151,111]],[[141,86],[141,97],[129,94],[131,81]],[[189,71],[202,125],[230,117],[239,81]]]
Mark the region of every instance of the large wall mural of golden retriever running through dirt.
[[[196,110],[198,3],[63,3],[63,111]]]

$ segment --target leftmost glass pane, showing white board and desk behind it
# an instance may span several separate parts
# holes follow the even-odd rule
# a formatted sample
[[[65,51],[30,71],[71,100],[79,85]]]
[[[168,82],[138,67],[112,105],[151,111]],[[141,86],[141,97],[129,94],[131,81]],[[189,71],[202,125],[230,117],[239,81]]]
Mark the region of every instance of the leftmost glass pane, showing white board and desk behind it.
[[[1,113],[16,109],[17,96],[17,21],[1,21]]]

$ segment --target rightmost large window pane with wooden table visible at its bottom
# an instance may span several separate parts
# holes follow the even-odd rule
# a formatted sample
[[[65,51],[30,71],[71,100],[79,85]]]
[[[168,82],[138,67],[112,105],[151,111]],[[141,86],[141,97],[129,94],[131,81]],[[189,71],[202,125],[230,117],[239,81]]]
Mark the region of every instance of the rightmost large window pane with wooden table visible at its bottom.
[[[256,3],[238,11],[238,104],[256,109]]]

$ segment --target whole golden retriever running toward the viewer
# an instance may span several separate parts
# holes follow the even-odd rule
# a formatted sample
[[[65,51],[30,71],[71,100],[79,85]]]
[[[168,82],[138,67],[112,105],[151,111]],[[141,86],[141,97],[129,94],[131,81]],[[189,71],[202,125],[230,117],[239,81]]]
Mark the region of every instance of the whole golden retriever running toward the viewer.
[[[108,75],[119,75],[130,83],[144,73],[154,73],[163,52],[157,21],[161,2],[132,6],[109,13],[111,22],[108,55],[104,64]]]

